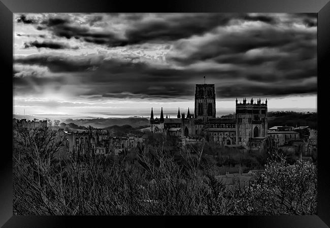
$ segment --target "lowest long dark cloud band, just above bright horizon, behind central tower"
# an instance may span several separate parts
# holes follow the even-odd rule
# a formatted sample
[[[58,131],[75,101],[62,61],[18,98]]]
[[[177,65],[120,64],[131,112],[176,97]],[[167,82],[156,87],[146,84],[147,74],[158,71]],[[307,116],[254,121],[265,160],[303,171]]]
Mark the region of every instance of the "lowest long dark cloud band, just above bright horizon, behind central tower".
[[[77,87],[88,85],[87,91],[79,92],[75,94],[76,96],[98,95],[119,99],[189,99],[189,96],[194,94],[194,84],[202,83],[203,75],[207,75],[208,82],[216,84],[217,96],[225,98],[250,94],[283,96],[316,92],[316,72],[312,68],[307,73],[304,70],[295,70],[278,75],[262,73],[262,71],[252,74],[224,69],[174,69],[120,59],[98,59],[93,64],[91,62],[90,59],[77,60],[74,57],[60,56],[30,56],[15,60],[15,63],[20,64],[47,66],[51,72],[55,73],[80,72],[68,74],[68,79],[74,78]],[[97,66],[97,68],[86,71],[92,66]],[[302,83],[304,78],[309,79],[310,82]],[[20,80],[27,80],[27,78]],[[43,83],[46,86],[50,83],[48,80],[50,79],[44,82],[42,79],[34,78],[39,86]]]

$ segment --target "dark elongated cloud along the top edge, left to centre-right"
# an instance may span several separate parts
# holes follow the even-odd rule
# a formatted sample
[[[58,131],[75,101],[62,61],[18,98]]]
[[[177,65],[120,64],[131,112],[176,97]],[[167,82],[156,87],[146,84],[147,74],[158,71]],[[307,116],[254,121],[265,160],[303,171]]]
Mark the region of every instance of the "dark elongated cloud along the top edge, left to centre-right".
[[[265,23],[275,22],[275,19],[269,16],[249,16],[246,14],[198,13],[174,14],[164,18],[161,16],[164,15],[160,14],[160,18],[145,19],[144,14],[126,14],[123,18],[130,22],[124,32],[124,38],[112,31],[96,32],[89,26],[77,26],[69,19],[63,18],[48,18],[42,21],[37,29],[49,29],[55,35],[67,39],[75,37],[89,43],[121,47],[153,41],[161,43],[176,41],[209,32],[217,26],[228,25],[233,19]],[[92,26],[100,20],[102,20],[101,16],[95,16],[89,19],[89,25]]]

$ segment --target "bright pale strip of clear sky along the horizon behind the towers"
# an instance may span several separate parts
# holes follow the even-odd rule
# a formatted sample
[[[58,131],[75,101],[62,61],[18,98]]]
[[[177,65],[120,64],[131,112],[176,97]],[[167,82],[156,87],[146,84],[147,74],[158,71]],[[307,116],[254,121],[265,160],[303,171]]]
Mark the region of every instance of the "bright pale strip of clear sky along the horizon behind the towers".
[[[238,98],[238,102],[243,98]],[[250,98],[246,98],[248,101]],[[256,100],[258,98],[255,98]],[[265,99],[261,98],[262,102]],[[45,103],[45,104],[44,104]],[[46,104],[47,103],[47,104]],[[50,103],[50,105],[49,105]],[[139,105],[137,105],[137,103]],[[110,117],[149,117],[151,107],[155,116],[160,115],[160,109],[163,108],[164,115],[170,115],[175,118],[180,107],[180,112],[187,112],[188,107],[194,112],[194,98],[191,101],[61,101],[48,100],[46,98],[40,100],[31,100],[29,98],[14,98],[13,113],[15,115],[31,115],[31,116],[50,116],[50,117],[89,117],[89,118],[110,118]],[[61,105],[62,104],[62,105]],[[317,96],[290,96],[282,98],[268,98],[268,110],[292,110],[292,111],[316,111]],[[216,116],[220,117],[235,112],[235,99],[216,98]]]

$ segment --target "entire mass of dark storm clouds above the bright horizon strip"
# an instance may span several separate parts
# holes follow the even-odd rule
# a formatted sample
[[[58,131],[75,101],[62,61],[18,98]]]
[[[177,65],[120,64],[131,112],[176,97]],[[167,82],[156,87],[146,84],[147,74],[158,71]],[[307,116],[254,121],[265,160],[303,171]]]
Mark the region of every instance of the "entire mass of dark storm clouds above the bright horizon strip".
[[[121,19],[120,14],[112,16]],[[17,77],[17,90],[28,91],[26,88],[35,84],[37,88],[57,86],[65,80],[65,85],[81,88],[69,92],[86,99],[190,100],[195,84],[204,83],[206,75],[207,82],[215,84],[219,98],[316,94],[316,29],[312,28],[315,14],[284,15],[283,20],[272,14],[158,16],[124,15],[129,22],[123,36],[106,29],[96,32],[88,26],[104,18],[89,17],[87,25],[81,26],[67,18],[43,20],[38,25],[42,30],[92,44],[108,47],[141,44],[150,51],[150,43],[160,42],[167,46],[166,61],[156,65],[156,61],[146,62],[143,55],[126,51],[118,54],[116,49],[111,49],[111,54],[93,56],[52,53],[18,56],[14,59],[17,64],[47,67],[52,74],[67,75],[67,80],[17,73],[25,75]],[[242,29],[239,27],[242,21],[252,23]],[[221,27],[233,25],[238,29]],[[137,50],[136,46],[129,48]]]

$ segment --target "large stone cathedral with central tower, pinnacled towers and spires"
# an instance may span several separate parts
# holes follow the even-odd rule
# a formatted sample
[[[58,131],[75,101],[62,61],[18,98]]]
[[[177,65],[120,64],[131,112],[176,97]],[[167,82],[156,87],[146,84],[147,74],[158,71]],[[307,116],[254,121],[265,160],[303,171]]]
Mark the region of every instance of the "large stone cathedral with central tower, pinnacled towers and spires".
[[[267,99],[265,103],[253,98],[238,102],[233,118],[216,118],[214,84],[196,84],[195,107],[187,115],[178,110],[177,118],[164,118],[161,108],[160,118],[154,118],[151,108],[151,132],[166,133],[177,137],[204,137],[209,142],[221,145],[244,146],[251,149],[260,147],[267,139]]]

